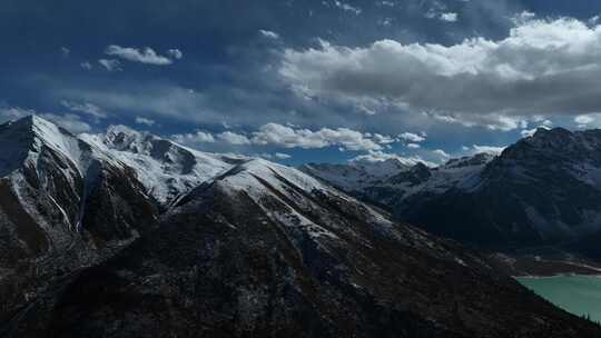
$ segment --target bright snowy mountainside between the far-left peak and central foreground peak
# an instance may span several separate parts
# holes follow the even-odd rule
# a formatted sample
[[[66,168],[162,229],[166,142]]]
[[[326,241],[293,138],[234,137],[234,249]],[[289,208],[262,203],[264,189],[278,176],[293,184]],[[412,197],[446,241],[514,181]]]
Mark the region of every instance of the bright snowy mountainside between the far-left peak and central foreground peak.
[[[243,160],[193,150],[125,126],[112,126],[106,135],[85,135],[82,138],[132,168],[161,205]]]

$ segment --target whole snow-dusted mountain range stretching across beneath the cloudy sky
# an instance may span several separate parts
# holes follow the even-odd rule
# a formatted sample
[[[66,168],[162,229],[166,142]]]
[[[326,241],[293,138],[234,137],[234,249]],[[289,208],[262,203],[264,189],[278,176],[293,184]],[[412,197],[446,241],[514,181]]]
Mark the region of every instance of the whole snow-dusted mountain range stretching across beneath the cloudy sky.
[[[546,145],[555,133],[573,141],[578,156],[560,152],[564,139]],[[505,187],[500,179],[514,179],[503,189],[529,197],[523,185],[555,175],[564,186],[549,191],[584,200],[580,193],[593,190],[560,188],[592,185],[595,137],[541,131],[500,157],[441,168],[391,161],[380,170],[298,170],[199,152],[126,127],[75,136],[35,116],[4,123],[0,335],[599,337],[597,325],[539,298],[485,256],[401,221],[425,219],[420,225],[444,233],[437,229],[452,223],[435,216],[442,197],[474,193],[483,203]],[[558,155],[563,162],[550,159]],[[578,178],[579,168],[589,173]],[[538,196],[524,201],[538,208]],[[560,208],[559,195],[545,196],[555,202],[551,210]],[[593,202],[573,209],[590,210],[588,218],[539,210],[560,217],[544,231],[542,220],[536,231],[503,228],[521,217],[510,213],[474,232],[496,229],[487,238],[515,235],[510,243],[529,245],[555,240],[562,223],[574,238],[594,233]]]

